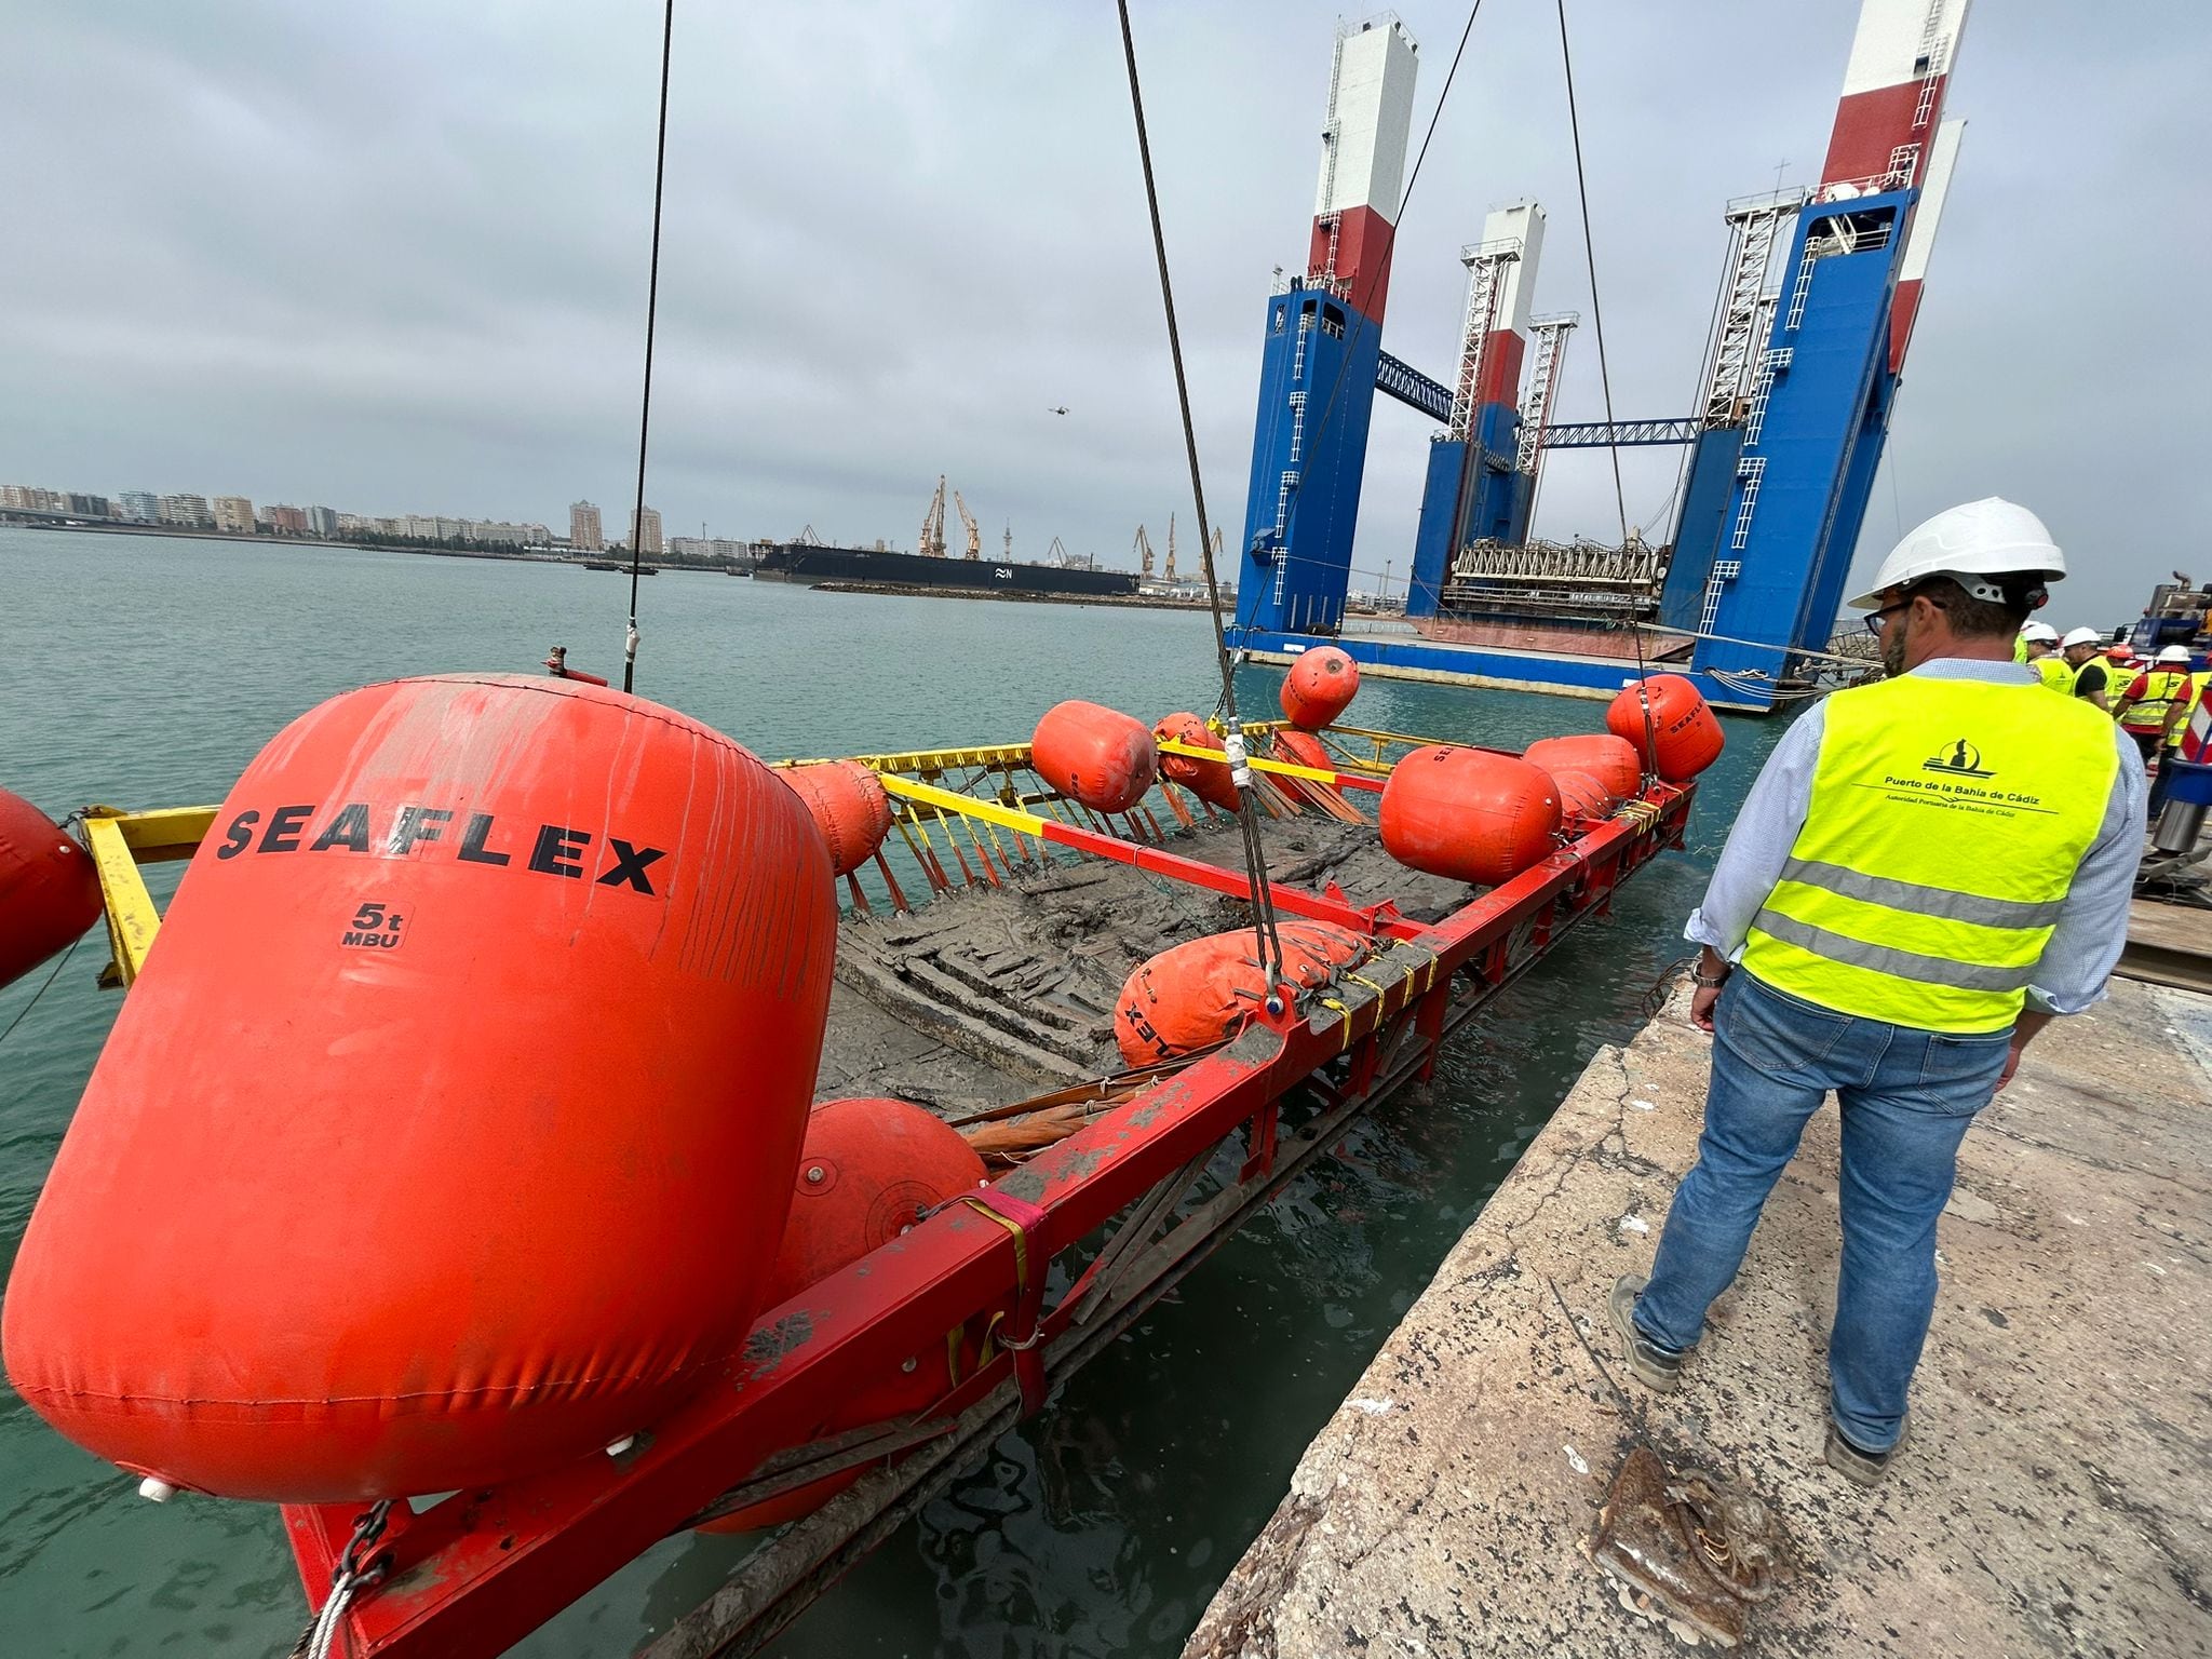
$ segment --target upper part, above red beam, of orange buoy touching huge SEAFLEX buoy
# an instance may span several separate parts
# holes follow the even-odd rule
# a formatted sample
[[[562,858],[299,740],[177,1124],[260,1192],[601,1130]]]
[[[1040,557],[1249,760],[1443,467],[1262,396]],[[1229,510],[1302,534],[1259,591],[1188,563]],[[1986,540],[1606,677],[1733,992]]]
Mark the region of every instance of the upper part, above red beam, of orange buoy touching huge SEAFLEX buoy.
[[[796,1296],[984,1179],[960,1130],[902,1099],[832,1099],[807,1115],[792,1214],[763,1307]]]

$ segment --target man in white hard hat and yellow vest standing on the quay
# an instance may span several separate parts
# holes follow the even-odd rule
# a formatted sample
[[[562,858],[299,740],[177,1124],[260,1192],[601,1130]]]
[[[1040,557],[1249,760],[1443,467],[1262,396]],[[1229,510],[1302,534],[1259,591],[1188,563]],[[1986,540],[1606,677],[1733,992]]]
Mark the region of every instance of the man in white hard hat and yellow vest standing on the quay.
[[[1834,1093],[1825,1458],[1860,1484],[1905,1442],[1958,1146],[2028,1040],[2104,995],[2128,936],[2143,763],[2011,659],[2062,575],[2042,520],[1997,498],[1898,542],[1851,599],[1889,677],[1783,734],[1686,929],[1705,947],[1690,1018],[1714,1033],[1705,1126],[1650,1281],[1621,1279],[1608,1314],[1630,1371],[1672,1389]]]

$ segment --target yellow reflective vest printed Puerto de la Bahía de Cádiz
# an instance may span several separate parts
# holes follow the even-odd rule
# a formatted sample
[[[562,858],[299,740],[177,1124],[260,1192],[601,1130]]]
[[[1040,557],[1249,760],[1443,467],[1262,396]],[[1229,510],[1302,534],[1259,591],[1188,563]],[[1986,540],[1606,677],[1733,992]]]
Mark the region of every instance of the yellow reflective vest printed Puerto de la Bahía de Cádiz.
[[[1905,675],[1827,699],[1805,827],[1743,967],[1823,1009],[2004,1031],[2119,770],[2095,703]]]

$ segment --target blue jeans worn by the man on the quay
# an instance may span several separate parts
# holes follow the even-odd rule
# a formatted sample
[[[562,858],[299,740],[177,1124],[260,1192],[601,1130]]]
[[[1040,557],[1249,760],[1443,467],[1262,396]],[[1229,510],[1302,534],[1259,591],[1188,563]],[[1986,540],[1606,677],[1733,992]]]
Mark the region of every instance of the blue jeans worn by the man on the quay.
[[[1674,1190],[1637,1329],[1697,1345],[1767,1192],[1829,1091],[1843,1106],[1843,1274],[1827,1371],[1836,1427],[1863,1451],[1905,1431],[1905,1391],[1936,1312],[1936,1214],[1958,1144],[2004,1073],[2011,1031],[1953,1035],[1814,1006],[1743,969],[1714,1011],[1697,1164]]]

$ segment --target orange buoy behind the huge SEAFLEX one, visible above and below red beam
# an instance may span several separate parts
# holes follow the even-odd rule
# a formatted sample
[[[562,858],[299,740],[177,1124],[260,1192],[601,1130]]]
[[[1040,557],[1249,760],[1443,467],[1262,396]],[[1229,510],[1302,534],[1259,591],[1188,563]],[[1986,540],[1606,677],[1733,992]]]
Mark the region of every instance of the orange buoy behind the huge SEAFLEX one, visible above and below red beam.
[[[849,1267],[889,1243],[940,1203],[973,1192],[984,1179],[960,1133],[902,1099],[832,1099],[807,1117],[805,1152],[783,1248],[761,1307],[779,1307],[807,1285]],[[845,1433],[872,1422],[905,1418],[951,1387],[945,1345],[911,1356],[902,1369],[832,1411],[818,1433]],[[825,1475],[781,1498],[768,1498],[701,1533],[752,1533],[810,1515],[852,1482],[860,1469]]]

